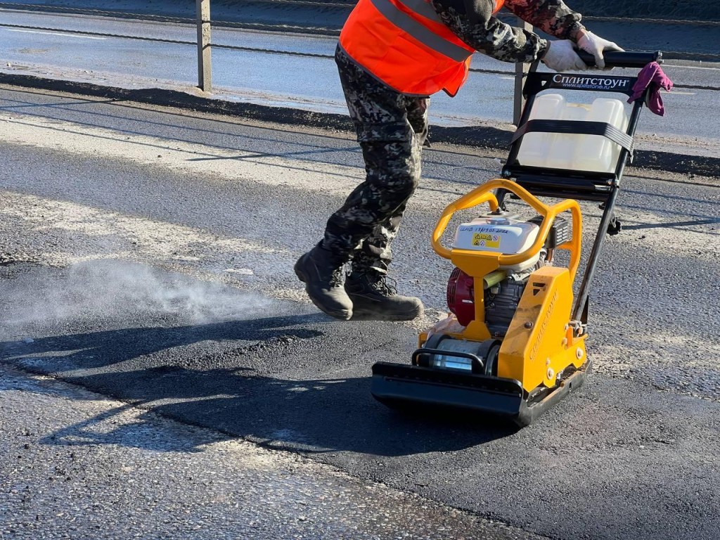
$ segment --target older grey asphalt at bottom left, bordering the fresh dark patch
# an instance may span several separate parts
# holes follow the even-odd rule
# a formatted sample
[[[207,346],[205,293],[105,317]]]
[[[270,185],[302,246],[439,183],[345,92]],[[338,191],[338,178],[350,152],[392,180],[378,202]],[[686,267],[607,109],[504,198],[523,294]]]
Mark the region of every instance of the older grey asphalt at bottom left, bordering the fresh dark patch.
[[[540,539],[48,377],[0,396],[4,539]]]

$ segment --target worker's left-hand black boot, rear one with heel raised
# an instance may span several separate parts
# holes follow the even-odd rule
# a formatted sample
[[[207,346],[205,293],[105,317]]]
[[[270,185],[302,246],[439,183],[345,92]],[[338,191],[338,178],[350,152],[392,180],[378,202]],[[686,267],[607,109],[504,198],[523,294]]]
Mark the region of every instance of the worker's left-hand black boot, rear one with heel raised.
[[[312,303],[322,312],[336,319],[353,316],[353,302],[343,288],[343,263],[320,244],[295,263],[295,274],[305,283],[305,291]]]

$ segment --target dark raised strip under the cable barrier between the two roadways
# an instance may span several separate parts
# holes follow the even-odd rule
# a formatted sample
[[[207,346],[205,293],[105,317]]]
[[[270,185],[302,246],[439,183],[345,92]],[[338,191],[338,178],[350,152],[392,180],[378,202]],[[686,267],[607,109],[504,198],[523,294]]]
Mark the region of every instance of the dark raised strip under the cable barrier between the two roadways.
[[[269,107],[251,103],[230,102],[204,96],[194,96],[169,89],[123,89],[115,86],[63,81],[30,75],[0,73],[0,84],[48,91],[66,92],[84,96],[102,97],[162,107],[176,107],[197,112],[227,114],[228,116],[275,122],[285,125],[306,125],[321,129],[354,132],[352,122],[343,114],[311,112],[289,107]],[[492,126],[444,127],[431,126],[431,142],[474,146],[507,151],[512,132]],[[656,171],[696,176],[720,176],[720,158],[688,156],[654,150],[636,150],[633,166]]]

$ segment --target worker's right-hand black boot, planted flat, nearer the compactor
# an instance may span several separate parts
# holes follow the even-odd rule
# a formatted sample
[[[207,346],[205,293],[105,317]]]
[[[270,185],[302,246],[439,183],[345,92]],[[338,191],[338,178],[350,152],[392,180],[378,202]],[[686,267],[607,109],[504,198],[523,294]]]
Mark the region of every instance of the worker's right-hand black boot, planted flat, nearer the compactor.
[[[353,270],[345,290],[353,301],[354,320],[413,320],[423,314],[423,302],[397,294],[395,281],[387,274]]]

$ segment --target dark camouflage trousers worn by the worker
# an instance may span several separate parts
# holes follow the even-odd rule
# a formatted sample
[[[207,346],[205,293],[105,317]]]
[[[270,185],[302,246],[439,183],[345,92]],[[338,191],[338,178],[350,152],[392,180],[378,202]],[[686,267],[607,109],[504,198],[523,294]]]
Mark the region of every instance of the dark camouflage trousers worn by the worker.
[[[428,98],[397,93],[348,58],[338,46],[340,81],[365,161],[366,179],[330,216],[323,246],[352,259],[354,269],[384,272],[390,243],[420,180],[428,137]]]

